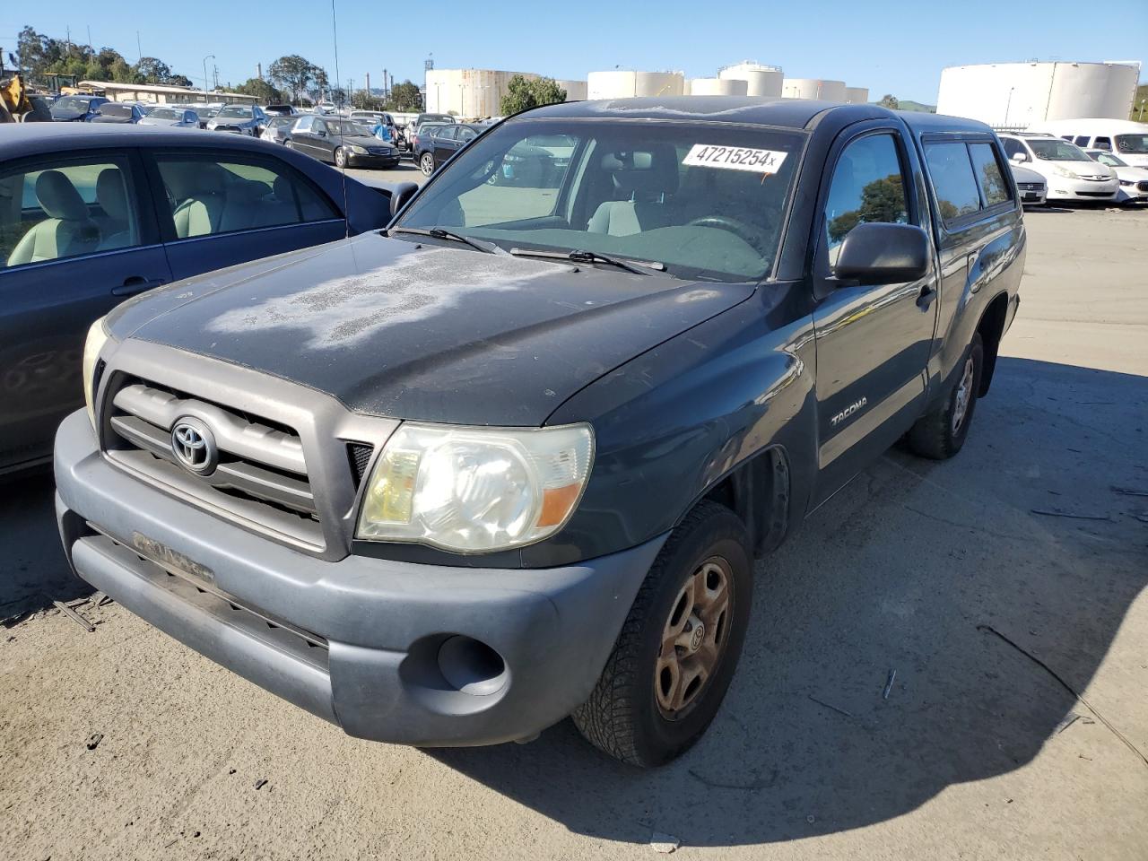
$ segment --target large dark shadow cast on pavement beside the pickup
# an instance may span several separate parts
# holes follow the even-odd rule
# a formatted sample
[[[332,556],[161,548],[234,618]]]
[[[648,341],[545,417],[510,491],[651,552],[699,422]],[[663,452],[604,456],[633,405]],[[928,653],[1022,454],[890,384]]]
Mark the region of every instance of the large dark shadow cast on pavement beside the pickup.
[[[956,459],[890,451],[760,566],[737,676],[680,761],[615,763],[569,721],[429,755],[579,833],[723,846],[890,820],[1072,745],[1057,727],[1087,709],[978,626],[1088,684],[1148,583],[1148,499],[1112,489],[1148,490],[1146,382],[1001,358]]]

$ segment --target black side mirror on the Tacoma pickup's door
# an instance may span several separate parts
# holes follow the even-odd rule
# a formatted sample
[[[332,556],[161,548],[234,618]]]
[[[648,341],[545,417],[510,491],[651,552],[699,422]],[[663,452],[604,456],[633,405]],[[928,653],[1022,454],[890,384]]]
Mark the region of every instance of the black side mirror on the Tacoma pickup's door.
[[[837,253],[833,274],[859,285],[916,281],[929,272],[929,236],[912,224],[859,224]]]

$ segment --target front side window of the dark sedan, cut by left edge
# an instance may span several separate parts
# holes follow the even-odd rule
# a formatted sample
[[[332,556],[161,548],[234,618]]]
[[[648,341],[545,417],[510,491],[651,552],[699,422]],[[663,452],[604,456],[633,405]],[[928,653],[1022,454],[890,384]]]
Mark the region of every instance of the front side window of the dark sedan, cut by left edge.
[[[0,172],[0,267],[138,245],[126,158],[41,160]]]

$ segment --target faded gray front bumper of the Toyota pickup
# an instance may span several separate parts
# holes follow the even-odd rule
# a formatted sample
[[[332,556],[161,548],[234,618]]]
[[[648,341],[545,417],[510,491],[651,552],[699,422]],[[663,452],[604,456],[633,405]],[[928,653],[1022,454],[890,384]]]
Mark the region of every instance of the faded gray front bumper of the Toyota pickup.
[[[122,472],[84,411],[55,473],[80,577],[349,735],[420,746],[529,737],[585,701],[666,540],[545,569],[327,561]]]

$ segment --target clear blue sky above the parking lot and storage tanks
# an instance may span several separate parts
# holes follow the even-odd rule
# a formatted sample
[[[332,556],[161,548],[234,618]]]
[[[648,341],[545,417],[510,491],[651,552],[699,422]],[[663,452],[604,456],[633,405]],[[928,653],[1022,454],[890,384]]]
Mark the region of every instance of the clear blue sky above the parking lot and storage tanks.
[[[718,67],[751,59],[799,78],[833,78],[868,86],[872,99],[893,93],[933,103],[940,70],[963,63],[1015,60],[1148,61],[1148,2],[1118,3],[1106,16],[1079,0],[657,3],[580,0],[571,3],[502,0],[416,3],[336,0],[339,67],[363,86],[387,68],[396,79],[420,80],[435,65],[533,71],[585,78],[599,69],[678,69],[712,76]],[[130,0],[99,3],[53,0],[9,5],[0,45],[15,47],[24,24],[137,59],[145,55],[202,82],[202,57],[215,54],[220,82],[238,84],[282,54],[302,54],[334,77],[331,6],[323,0],[218,2]],[[20,11],[15,11],[20,9]],[[212,61],[209,62],[210,64]],[[1148,70],[1146,70],[1148,71]]]

